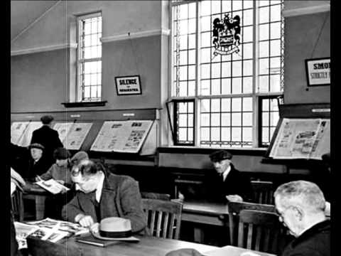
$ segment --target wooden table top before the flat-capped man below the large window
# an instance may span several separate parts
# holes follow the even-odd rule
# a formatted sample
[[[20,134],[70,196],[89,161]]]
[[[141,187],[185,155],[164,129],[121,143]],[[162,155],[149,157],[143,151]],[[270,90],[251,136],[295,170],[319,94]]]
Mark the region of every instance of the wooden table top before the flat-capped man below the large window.
[[[202,213],[210,215],[228,215],[229,208],[224,203],[207,201],[184,201],[183,213]]]

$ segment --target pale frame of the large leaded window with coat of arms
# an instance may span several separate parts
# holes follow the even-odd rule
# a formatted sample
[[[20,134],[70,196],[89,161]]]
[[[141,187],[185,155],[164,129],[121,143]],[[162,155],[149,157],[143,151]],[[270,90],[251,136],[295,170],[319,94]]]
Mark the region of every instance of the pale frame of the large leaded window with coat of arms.
[[[265,98],[273,99],[276,97],[283,97],[283,68],[284,68],[284,63],[283,63],[283,44],[284,44],[284,39],[283,39],[283,26],[284,26],[284,18],[283,14],[281,16],[281,53],[280,53],[280,58],[281,58],[281,70],[280,70],[280,86],[281,86],[281,92],[257,92],[259,90],[259,70],[258,65],[259,65],[259,53],[257,48],[259,47],[259,37],[256,36],[256,30],[259,29],[259,22],[256,20],[258,18],[258,12],[259,12],[259,4],[258,2],[255,2],[253,6],[253,25],[252,25],[252,31],[254,33],[253,35],[253,41],[252,41],[252,64],[253,64],[253,75],[252,75],[252,92],[251,93],[242,93],[242,94],[229,94],[229,95],[199,95],[200,91],[200,4],[199,2],[202,0],[190,0],[190,1],[176,1],[176,2],[171,2],[169,4],[169,22],[171,26],[171,36],[169,37],[169,53],[171,56],[171,60],[168,62],[169,66],[169,73],[168,73],[168,84],[170,85],[168,87],[168,101],[171,102],[188,102],[188,100],[194,100],[195,104],[195,110],[194,110],[194,117],[193,119],[195,120],[195,127],[193,131],[193,139],[194,139],[194,145],[190,144],[182,144],[179,143],[178,141],[173,141],[173,144],[175,146],[181,145],[181,146],[198,146],[200,148],[207,148],[206,146],[202,146],[200,144],[200,101],[202,99],[220,99],[220,98],[234,98],[234,97],[252,97],[252,146],[251,149],[254,148],[264,148],[262,144],[262,137],[261,137],[261,114],[262,114],[262,109],[261,109],[261,100]],[[174,96],[175,92],[175,86],[173,85],[173,82],[175,81],[174,78],[174,65],[175,65],[175,60],[174,60],[174,55],[173,53],[175,52],[175,47],[173,46],[173,40],[174,40],[174,33],[175,31],[173,30],[173,6],[179,6],[182,4],[191,4],[195,3],[195,11],[196,11],[196,18],[195,18],[195,95],[194,96]],[[269,6],[272,6],[273,4],[269,3]],[[283,0],[281,1],[281,8],[283,11]],[[212,14],[211,14],[212,15]],[[271,23],[269,21],[268,23]],[[211,37],[212,38],[212,37]],[[271,38],[268,39],[268,41],[271,41]],[[212,45],[211,45],[212,47]],[[267,58],[273,57],[269,55]],[[220,62],[221,63],[221,62]],[[211,63],[212,64],[212,63]],[[269,77],[271,75],[271,72],[269,72]],[[212,80],[212,78],[210,78]],[[201,79],[202,80],[202,79]],[[174,103],[175,104],[175,103]],[[174,105],[175,109],[175,105]],[[279,114],[279,112],[278,112]],[[173,124],[176,124],[178,122],[178,119],[176,117],[175,111],[173,111]],[[177,133],[177,130],[175,129],[176,127],[174,126],[174,134]],[[174,137],[176,138],[176,136]],[[210,145],[208,148],[212,148],[215,145]],[[220,146],[221,148],[224,148],[224,146]],[[243,147],[227,147],[227,149],[242,149]],[[245,148],[247,149],[247,148]]]

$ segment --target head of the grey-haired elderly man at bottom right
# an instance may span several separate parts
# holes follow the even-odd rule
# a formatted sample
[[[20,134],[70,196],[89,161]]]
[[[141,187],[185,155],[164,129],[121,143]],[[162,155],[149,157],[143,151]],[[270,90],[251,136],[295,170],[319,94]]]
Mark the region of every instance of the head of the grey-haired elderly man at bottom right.
[[[274,193],[279,220],[296,238],[312,224],[325,220],[325,197],[310,181],[291,181]]]

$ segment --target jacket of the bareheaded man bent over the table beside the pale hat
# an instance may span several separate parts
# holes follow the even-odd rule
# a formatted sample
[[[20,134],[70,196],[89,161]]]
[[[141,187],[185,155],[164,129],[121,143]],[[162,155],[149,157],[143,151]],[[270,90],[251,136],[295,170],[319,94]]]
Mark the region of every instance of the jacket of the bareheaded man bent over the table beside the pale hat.
[[[77,191],[76,196],[63,207],[63,219],[75,222],[76,215],[82,213],[90,215],[94,222],[97,220],[94,208],[94,193]],[[142,208],[139,183],[129,176],[105,174],[102,187],[102,196],[99,202],[101,219],[108,217],[121,217],[131,220],[133,233],[144,230],[146,215]]]

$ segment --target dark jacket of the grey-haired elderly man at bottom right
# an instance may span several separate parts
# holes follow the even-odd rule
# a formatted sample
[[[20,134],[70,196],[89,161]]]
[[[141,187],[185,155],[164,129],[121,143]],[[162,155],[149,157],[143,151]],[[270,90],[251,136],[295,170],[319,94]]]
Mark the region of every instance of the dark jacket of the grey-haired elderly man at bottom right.
[[[311,227],[293,240],[281,256],[330,256],[330,220]]]

